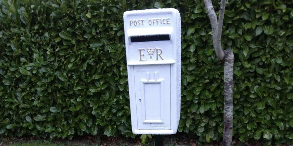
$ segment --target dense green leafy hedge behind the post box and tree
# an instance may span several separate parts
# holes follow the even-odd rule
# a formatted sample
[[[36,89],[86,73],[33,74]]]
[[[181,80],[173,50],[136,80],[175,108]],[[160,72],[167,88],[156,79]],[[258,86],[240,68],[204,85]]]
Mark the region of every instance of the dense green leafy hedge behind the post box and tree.
[[[135,137],[122,15],[147,8],[181,13],[178,131],[221,140],[223,65],[203,0],[0,0],[0,135]],[[222,44],[235,54],[236,139],[293,143],[292,8],[292,0],[227,2]]]

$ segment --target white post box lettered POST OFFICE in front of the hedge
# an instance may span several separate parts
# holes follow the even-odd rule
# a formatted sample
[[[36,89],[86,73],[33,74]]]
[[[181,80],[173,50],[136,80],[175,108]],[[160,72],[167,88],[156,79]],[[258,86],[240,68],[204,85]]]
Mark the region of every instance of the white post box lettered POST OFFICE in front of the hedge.
[[[181,21],[174,8],[123,15],[132,132],[175,134],[180,119]]]

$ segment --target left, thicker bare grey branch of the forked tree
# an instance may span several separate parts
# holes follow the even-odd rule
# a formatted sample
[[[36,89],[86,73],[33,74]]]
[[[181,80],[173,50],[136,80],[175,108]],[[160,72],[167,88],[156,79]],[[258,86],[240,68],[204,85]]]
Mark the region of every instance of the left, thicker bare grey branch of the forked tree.
[[[221,2],[222,3],[222,2]],[[205,7],[207,8],[207,13],[209,15],[209,20],[212,25],[212,34],[213,34],[213,44],[214,44],[214,50],[216,52],[216,55],[219,60],[223,60],[224,58],[224,52],[221,47],[221,37],[218,38],[218,20],[217,20],[217,15],[215,13],[212,0],[205,0]],[[224,16],[223,16],[224,18]],[[222,20],[223,21],[223,20]],[[223,25],[223,22],[222,22]],[[222,27],[221,27],[221,34],[222,34]]]

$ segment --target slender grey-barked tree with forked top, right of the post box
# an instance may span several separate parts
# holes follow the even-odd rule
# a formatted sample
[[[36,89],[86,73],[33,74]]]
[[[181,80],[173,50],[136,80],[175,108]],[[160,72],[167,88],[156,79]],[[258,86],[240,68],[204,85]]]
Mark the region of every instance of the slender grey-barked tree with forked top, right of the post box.
[[[222,27],[226,0],[221,0],[219,19],[214,11],[212,0],[205,0],[205,7],[212,25],[213,45],[217,58],[224,61],[224,133],[223,146],[231,146],[233,135],[233,67],[234,54],[231,49],[224,50],[221,46]]]

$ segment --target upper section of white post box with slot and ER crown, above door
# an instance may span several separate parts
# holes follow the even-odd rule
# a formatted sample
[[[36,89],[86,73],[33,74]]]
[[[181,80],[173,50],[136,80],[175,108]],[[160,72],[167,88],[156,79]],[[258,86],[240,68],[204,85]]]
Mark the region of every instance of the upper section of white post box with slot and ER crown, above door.
[[[127,65],[176,64],[181,51],[178,10],[126,11],[123,19]]]

